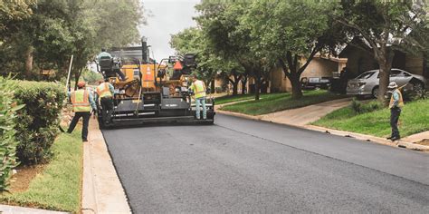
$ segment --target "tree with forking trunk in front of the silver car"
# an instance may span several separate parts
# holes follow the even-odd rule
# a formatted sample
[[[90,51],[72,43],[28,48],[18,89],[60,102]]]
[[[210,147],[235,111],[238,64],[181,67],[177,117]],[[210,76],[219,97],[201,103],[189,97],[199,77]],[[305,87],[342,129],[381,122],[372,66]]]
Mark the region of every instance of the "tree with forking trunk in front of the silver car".
[[[338,23],[360,36],[379,65],[378,100],[383,102],[395,50],[424,49],[413,34],[427,21],[424,1],[342,1]],[[426,35],[427,36],[427,35]]]

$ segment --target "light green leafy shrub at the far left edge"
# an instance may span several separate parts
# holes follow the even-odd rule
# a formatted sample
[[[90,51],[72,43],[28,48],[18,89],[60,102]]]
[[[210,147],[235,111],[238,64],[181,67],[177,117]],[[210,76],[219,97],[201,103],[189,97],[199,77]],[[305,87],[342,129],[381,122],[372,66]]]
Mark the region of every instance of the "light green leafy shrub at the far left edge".
[[[13,101],[15,83],[0,77],[0,191],[7,190],[12,170],[18,164],[15,158],[17,141],[14,138],[15,111],[24,107]]]

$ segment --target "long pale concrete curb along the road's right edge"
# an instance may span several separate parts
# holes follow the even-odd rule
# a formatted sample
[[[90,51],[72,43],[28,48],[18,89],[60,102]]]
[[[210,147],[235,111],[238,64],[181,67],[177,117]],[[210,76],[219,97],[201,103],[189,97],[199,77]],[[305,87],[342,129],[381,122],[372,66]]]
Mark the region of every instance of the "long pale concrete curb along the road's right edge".
[[[234,116],[234,117],[240,117],[240,118],[245,118],[245,119],[249,119],[249,120],[254,120],[254,121],[272,122],[272,121],[268,121],[268,120],[263,120],[262,116],[252,116],[252,115],[247,115],[247,114],[243,114],[243,113],[236,113],[236,112],[225,112],[222,110],[217,110],[216,112],[221,113],[221,114],[225,114],[225,115]],[[334,135],[338,135],[338,136],[355,138],[355,139],[358,139],[361,141],[371,141],[371,142],[376,142],[376,143],[387,145],[387,146],[399,147],[399,148],[404,148],[404,149],[409,149],[409,150],[414,150],[414,151],[426,151],[426,152],[429,151],[429,146],[415,144],[415,143],[409,142],[409,141],[393,141],[392,142],[392,141],[388,141],[384,138],[379,138],[379,137],[375,137],[375,136],[371,136],[371,135],[360,134],[360,133],[355,133],[355,132],[350,132],[350,131],[332,130],[329,128],[319,127],[319,126],[315,126],[315,125],[300,126],[300,125],[290,124],[290,123],[286,123],[286,122],[272,122],[272,123],[281,124],[281,125],[289,125],[292,127],[297,127],[300,129],[306,129],[306,130],[311,130],[311,131],[326,132],[326,133],[334,134]]]

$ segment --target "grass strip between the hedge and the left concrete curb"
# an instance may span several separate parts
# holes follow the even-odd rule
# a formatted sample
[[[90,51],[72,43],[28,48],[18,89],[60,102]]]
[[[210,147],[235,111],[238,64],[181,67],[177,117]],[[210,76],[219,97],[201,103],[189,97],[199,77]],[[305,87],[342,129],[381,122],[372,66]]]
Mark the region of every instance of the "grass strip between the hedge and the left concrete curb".
[[[81,211],[83,147],[81,132],[62,133],[52,145],[54,157],[24,192],[4,193],[0,201],[24,207]]]

